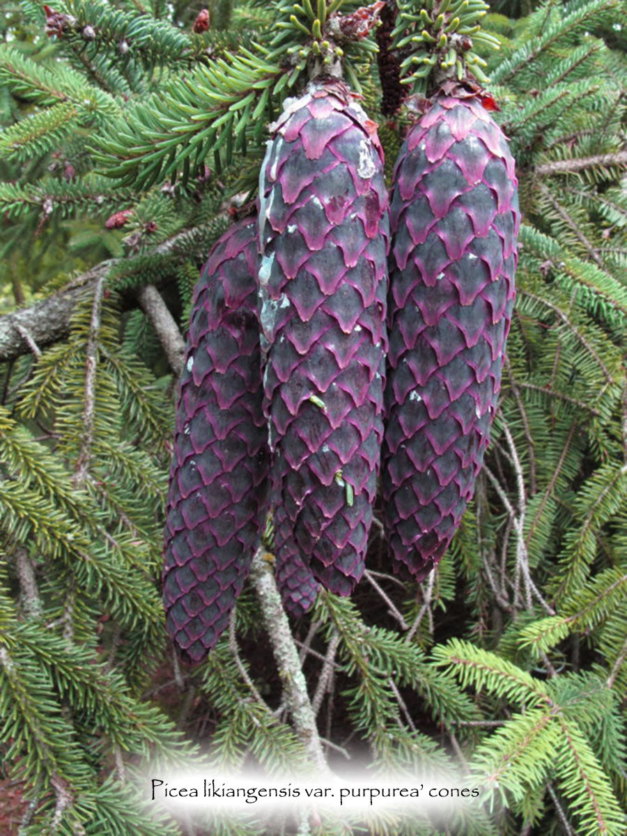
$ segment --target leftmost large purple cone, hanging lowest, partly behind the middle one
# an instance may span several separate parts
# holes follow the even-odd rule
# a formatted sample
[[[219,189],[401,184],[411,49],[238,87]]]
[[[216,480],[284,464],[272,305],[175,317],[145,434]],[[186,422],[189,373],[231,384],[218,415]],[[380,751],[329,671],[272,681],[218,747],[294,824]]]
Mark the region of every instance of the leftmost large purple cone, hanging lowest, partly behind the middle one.
[[[257,222],[213,247],[194,290],[165,532],[166,628],[204,658],[242,591],[263,527],[268,431],[257,323]]]

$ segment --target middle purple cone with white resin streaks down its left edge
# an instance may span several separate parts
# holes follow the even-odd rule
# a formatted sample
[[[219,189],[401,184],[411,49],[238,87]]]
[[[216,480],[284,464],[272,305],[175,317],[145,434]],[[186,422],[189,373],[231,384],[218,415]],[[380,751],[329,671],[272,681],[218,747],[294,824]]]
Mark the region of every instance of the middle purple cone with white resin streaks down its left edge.
[[[300,550],[348,595],[364,571],[383,438],[388,196],[371,122],[313,82],[272,126],[260,175],[261,325],[278,563]]]

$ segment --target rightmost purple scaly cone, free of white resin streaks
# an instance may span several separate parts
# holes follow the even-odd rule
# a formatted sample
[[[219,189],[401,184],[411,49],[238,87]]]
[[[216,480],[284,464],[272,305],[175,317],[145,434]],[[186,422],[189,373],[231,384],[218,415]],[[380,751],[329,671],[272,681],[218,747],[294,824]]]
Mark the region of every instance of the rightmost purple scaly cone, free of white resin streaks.
[[[436,96],[407,136],[391,201],[383,452],[394,568],[422,579],[481,469],[512,317],[514,161],[480,101]]]

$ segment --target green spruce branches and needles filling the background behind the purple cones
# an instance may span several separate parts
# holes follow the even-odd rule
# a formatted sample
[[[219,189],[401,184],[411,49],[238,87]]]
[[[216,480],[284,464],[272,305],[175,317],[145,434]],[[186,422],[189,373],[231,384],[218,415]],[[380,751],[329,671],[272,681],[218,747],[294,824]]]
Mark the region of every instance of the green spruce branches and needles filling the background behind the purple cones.
[[[190,3],[0,4],[3,833],[194,833],[138,798],[142,758],[182,765],[208,746],[272,771],[304,757],[252,587],[193,669],[159,593],[181,367],[166,313],[184,332],[273,109],[302,81],[278,72],[269,6],[212,0],[194,31]],[[621,7],[497,0],[484,28],[501,42],[481,54],[523,229],[477,496],[423,584],[390,577],[375,527],[353,599],[321,594],[292,626],[331,766],[364,752],[380,770],[458,764],[485,803],[312,833],[624,833]],[[353,67],[392,161],[375,55]]]

